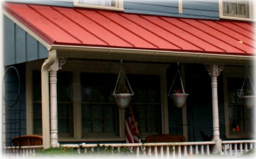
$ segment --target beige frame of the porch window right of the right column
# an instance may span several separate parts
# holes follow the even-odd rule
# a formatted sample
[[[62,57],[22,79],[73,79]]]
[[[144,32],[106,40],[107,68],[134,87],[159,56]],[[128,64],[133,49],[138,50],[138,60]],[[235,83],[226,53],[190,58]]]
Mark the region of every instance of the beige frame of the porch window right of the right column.
[[[249,70],[249,73],[252,73]],[[225,135],[227,139],[246,139],[251,138],[254,136],[253,133],[251,134],[230,134],[230,127],[229,127],[229,110],[228,110],[228,89],[227,89],[227,79],[228,78],[241,78],[244,79],[246,74],[246,67],[230,67],[226,66],[223,70],[223,84],[224,84],[224,114],[225,114]],[[242,86],[242,83],[241,83]],[[245,108],[246,109],[246,108]]]

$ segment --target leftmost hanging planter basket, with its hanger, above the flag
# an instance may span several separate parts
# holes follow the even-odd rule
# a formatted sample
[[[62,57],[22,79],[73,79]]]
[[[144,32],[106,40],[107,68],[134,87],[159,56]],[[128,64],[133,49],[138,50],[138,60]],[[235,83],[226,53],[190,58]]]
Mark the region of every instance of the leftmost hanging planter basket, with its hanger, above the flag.
[[[120,76],[125,77],[130,90],[125,85],[125,81],[123,83],[120,83]],[[130,92],[132,92],[132,93],[130,93]],[[124,70],[122,67],[122,61],[121,61],[121,69],[119,71],[117,84],[116,84],[116,87],[114,88],[114,92],[113,92],[113,96],[114,96],[114,99],[116,100],[117,106],[121,109],[126,108],[129,105],[133,94],[134,93],[132,91],[131,85],[130,85],[127,77],[125,76],[125,73],[124,73]]]

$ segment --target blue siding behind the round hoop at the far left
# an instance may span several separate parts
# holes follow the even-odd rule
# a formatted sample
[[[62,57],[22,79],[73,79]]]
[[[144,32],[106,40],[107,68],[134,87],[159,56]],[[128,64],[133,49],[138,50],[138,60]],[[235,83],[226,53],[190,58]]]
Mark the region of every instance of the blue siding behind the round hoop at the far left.
[[[11,146],[11,139],[15,136],[27,134],[26,106],[25,106],[25,63],[14,65],[20,76],[20,100],[16,102],[19,90],[19,81],[16,71],[9,69],[5,76],[5,123],[4,135],[6,146]],[[19,114],[20,107],[20,114]]]

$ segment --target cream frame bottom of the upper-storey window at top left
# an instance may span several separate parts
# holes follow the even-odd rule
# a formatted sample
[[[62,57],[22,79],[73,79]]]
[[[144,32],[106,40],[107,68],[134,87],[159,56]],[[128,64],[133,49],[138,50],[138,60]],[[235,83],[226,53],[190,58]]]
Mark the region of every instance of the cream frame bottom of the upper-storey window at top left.
[[[79,0],[74,0],[73,5],[74,5],[74,7],[124,11],[123,0],[114,0],[114,1],[116,1],[115,6],[90,5],[90,4],[85,4],[85,3],[79,3]]]

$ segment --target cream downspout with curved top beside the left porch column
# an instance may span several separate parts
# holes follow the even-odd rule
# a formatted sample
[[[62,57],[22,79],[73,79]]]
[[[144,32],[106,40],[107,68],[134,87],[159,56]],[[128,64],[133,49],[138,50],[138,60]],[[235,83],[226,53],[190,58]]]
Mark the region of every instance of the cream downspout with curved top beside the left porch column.
[[[44,149],[50,147],[49,67],[55,63],[56,57],[56,50],[49,50],[48,59],[43,63],[41,68],[42,136]]]

